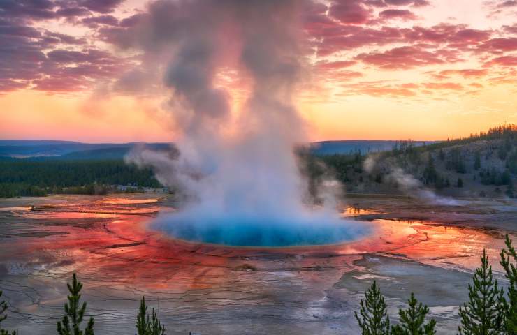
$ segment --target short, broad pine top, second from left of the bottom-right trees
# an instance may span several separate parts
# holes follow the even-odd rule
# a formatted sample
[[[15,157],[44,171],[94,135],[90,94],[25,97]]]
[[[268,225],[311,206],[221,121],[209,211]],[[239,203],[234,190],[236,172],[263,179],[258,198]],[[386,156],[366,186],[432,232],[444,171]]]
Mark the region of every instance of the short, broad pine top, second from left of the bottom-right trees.
[[[407,301],[409,307],[405,310],[400,309],[400,323],[392,327],[393,335],[433,335],[436,334],[436,320],[431,319],[425,323],[425,315],[429,313],[428,306],[418,303],[415,295],[412,293]],[[418,304],[418,306],[417,306]]]

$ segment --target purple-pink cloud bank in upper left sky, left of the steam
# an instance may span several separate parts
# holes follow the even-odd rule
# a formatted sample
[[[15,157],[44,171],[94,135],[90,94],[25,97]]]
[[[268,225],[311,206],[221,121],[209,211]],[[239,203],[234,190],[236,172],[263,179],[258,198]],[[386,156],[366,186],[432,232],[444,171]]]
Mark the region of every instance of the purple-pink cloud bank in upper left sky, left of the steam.
[[[33,25],[41,20],[75,20],[117,24],[109,12],[122,1],[17,0],[0,1],[0,92],[38,89],[52,92],[90,89],[109,81],[131,62],[95,47],[82,36],[71,36]]]

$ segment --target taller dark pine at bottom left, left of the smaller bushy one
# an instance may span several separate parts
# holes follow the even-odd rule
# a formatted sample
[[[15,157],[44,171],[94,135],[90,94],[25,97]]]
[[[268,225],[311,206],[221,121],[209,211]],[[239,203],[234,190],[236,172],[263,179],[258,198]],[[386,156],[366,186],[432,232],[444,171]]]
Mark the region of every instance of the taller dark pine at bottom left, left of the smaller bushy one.
[[[86,302],[80,307],[82,283],[77,280],[77,276],[73,274],[72,284],[67,283],[68,304],[64,305],[65,315],[61,322],[57,322],[57,332],[59,335],[94,335],[94,318],[89,318],[88,325],[84,332],[80,329],[82,319],[85,316]]]

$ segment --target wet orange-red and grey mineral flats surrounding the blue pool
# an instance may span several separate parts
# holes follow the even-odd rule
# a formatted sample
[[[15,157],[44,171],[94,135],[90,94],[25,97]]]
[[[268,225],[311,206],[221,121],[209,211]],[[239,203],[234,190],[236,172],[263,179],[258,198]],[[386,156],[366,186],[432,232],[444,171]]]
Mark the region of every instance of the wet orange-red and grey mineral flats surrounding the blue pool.
[[[168,334],[357,334],[353,311],[373,280],[393,318],[415,291],[439,321],[439,334],[448,334],[456,329],[457,306],[466,299],[466,282],[483,248],[500,276],[497,258],[504,233],[514,231],[514,204],[352,202],[343,216],[374,226],[358,241],[232,248],[150,229],[159,212],[174,210],[168,198],[3,200],[0,288],[11,310],[6,323],[22,334],[48,334],[61,315],[64,283],[77,271],[96,334],[134,334],[142,295],[159,301]]]

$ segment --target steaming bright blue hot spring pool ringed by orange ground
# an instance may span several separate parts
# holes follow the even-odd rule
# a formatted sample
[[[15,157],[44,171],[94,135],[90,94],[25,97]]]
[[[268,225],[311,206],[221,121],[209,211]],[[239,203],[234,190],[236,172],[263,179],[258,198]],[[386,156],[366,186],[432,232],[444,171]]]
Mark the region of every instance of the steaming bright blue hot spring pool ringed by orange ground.
[[[187,210],[163,216],[154,226],[184,241],[265,248],[342,244],[370,232],[367,223],[318,211],[290,216],[196,216]]]

